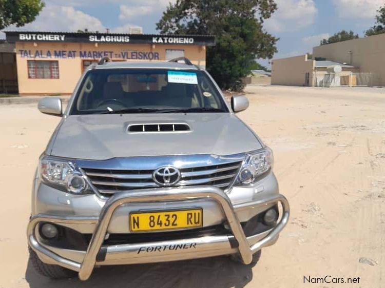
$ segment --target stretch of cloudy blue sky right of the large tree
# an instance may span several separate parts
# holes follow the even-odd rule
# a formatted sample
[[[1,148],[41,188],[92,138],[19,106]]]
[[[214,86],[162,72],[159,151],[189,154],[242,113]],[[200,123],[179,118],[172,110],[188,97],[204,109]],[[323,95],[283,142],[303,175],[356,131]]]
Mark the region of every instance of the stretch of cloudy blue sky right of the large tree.
[[[265,29],[280,38],[274,58],[312,52],[323,38],[344,29],[359,36],[374,25],[385,0],[277,0],[278,10]],[[267,64],[268,61],[262,61]]]

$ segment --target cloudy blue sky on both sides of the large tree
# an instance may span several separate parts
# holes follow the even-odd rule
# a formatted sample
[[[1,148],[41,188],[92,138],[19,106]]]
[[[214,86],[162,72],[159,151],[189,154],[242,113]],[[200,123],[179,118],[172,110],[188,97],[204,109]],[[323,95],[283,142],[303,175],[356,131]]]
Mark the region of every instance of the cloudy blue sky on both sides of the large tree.
[[[175,3],[176,0],[171,0]],[[170,0],[46,0],[35,22],[18,30],[92,31],[127,33],[141,26],[144,33],[157,33],[156,23]],[[376,10],[385,0],[276,0],[278,10],[264,27],[280,38],[274,58],[311,52],[322,38],[342,29],[363,36],[374,24]],[[7,30],[16,30],[9,27]],[[0,33],[0,38],[4,34]],[[269,66],[268,60],[260,63]]]

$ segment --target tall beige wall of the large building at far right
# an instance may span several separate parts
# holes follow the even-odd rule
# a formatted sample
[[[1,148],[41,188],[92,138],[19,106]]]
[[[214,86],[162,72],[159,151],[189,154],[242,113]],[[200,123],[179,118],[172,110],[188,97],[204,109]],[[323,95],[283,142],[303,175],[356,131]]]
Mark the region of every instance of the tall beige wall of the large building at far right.
[[[373,73],[373,86],[385,86],[385,34],[314,47],[313,57],[358,66],[362,73]]]

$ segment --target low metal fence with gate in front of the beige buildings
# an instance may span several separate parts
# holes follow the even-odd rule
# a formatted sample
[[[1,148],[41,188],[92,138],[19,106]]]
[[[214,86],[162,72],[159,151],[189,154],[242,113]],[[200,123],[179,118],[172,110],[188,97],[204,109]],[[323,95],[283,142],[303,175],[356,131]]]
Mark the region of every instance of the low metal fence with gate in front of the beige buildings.
[[[372,85],[372,73],[328,73],[324,74],[318,86],[368,87]]]

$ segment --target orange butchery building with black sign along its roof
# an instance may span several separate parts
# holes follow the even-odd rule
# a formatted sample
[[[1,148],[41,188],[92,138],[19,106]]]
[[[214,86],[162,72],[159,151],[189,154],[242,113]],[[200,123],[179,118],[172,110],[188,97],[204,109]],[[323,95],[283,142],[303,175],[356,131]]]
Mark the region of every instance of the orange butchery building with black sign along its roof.
[[[71,94],[84,69],[113,61],[166,61],[185,56],[205,67],[214,36],[68,32],[5,32],[15,44],[20,95]]]

